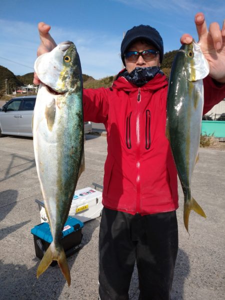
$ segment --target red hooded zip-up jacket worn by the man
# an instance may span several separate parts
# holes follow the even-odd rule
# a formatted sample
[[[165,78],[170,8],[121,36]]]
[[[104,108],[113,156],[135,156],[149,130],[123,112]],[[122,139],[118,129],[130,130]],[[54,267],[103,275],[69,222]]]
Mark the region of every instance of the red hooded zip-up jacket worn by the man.
[[[84,120],[102,122],[107,131],[107,208],[143,215],[178,207],[177,172],[165,137],[167,85],[157,74],[139,88],[118,77],[110,88],[83,90]],[[225,87],[207,77],[204,88],[208,111],[225,97]]]

